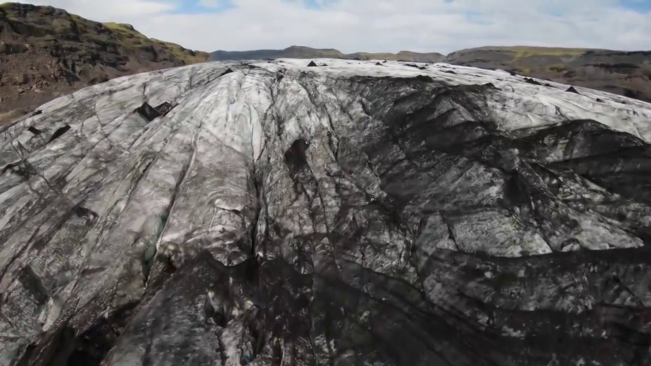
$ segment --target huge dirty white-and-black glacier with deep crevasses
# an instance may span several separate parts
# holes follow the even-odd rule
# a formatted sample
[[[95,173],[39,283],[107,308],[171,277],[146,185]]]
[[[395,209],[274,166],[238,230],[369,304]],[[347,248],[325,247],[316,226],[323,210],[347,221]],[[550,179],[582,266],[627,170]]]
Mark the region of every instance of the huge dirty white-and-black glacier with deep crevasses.
[[[308,62],[0,128],[0,365],[651,364],[651,104]]]

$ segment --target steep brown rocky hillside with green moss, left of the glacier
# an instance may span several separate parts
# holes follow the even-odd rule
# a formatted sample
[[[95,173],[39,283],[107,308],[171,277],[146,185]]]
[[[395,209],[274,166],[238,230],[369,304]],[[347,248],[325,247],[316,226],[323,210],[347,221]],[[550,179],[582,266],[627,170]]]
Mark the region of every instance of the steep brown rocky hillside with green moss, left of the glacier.
[[[126,24],[65,10],[0,4],[0,125],[49,100],[113,77],[207,61]]]

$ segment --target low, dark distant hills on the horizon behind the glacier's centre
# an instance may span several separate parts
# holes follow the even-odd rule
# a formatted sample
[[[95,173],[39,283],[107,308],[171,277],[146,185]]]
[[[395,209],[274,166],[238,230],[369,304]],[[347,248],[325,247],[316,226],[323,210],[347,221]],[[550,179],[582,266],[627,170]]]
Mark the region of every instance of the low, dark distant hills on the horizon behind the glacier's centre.
[[[342,53],[333,48],[310,48],[303,46],[291,46],[285,49],[256,49],[253,51],[215,51],[210,53],[215,61],[230,60],[264,60],[264,59],[384,59],[414,61],[419,63],[437,63],[445,59],[441,53],[418,53],[411,51],[400,51],[398,53]]]

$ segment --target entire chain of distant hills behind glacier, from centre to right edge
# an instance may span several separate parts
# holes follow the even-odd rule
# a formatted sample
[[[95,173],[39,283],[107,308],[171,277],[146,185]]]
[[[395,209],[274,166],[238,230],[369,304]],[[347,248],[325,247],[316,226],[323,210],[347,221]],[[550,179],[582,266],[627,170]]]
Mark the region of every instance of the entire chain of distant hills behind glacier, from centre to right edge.
[[[450,63],[487,69],[502,69],[536,77],[614,92],[651,102],[651,51],[614,51],[590,48],[485,46],[441,53],[342,53],[332,48],[291,46],[285,49],[215,51],[216,61],[246,59],[385,59],[418,63]]]

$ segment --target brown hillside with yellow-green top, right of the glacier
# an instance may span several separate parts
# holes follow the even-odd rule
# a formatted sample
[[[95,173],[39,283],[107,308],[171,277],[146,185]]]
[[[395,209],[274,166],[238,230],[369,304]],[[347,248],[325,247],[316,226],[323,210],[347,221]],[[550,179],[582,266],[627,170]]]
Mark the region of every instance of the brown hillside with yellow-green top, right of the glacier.
[[[651,102],[651,51],[486,47],[450,53],[445,62],[501,68]]]

